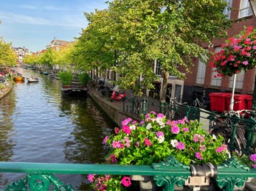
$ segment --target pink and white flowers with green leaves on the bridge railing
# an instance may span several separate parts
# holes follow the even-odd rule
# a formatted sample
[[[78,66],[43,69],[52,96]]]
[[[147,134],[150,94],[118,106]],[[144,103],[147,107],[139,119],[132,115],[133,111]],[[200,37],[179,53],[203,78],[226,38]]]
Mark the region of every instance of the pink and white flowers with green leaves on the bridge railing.
[[[207,134],[198,120],[167,120],[156,112],[148,113],[141,122],[131,118],[122,121],[122,129],[114,129],[114,134],[105,137],[103,143],[110,148],[106,156],[108,164],[151,165],[174,156],[186,165],[208,162],[218,165],[229,158],[223,139]],[[96,190],[131,184],[127,176],[89,175],[88,179],[94,182]]]

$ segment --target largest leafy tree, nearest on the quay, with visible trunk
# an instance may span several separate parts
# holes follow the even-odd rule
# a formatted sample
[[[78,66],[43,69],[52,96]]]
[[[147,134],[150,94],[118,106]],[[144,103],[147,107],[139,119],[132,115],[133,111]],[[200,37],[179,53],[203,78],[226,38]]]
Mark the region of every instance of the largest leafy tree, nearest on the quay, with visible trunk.
[[[201,43],[226,35],[229,27],[223,14],[227,4],[222,0],[114,0],[109,4],[111,31],[122,53],[115,68],[124,74],[118,83],[133,87],[142,75],[136,90],[152,87],[151,65],[159,60],[165,74],[161,100],[165,100],[168,73],[184,78],[177,64],[189,72],[191,57],[206,62],[203,55],[208,52]]]

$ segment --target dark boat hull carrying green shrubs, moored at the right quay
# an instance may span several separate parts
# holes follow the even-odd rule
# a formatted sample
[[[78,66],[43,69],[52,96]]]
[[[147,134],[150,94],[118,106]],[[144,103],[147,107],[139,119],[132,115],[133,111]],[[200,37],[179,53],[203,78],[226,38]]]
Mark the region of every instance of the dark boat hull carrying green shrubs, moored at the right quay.
[[[70,85],[61,84],[61,93],[64,95],[87,96],[89,90],[81,82],[72,82]]]

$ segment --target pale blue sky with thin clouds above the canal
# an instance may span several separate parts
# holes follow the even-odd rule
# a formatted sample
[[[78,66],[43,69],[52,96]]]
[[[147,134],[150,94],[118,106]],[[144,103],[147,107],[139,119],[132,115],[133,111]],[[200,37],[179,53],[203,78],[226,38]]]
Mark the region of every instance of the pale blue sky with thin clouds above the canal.
[[[39,51],[54,39],[74,40],[87,26],[83,12],[108,7],[106,0],[1,0],[0,36],[13,47]]]

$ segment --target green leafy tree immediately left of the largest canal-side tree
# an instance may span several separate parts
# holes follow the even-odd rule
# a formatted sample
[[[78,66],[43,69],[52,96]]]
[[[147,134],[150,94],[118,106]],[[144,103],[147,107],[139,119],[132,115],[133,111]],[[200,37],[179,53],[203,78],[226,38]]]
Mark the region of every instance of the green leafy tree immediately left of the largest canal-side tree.
[[[114,64],[114,48],[109,29],[108,10],[95,10],[95,13],[86,13],[89,26],[77,39],[72,50],[72,58],[82,71],[91,71],[94,68],[104,72]]]

